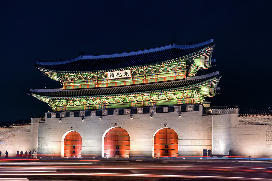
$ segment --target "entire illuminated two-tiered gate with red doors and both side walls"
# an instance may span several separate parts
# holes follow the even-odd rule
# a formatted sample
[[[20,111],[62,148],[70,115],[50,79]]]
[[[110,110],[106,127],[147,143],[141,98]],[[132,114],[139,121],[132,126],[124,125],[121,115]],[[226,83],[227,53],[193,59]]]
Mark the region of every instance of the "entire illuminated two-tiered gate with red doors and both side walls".
[[[29,95],[53,112],[0,123],[0,151],[61,157],[178,157],[213,154],[271,157],[270,108],[211,107],[220,93],[214,41],[170,45],[35,67],[62,85]]]

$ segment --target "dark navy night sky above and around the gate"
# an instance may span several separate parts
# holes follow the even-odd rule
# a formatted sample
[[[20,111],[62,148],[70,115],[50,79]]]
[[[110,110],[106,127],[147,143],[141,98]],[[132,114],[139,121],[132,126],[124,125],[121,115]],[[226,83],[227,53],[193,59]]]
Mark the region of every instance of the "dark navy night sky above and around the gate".
[[[32,87],[61,87],[33,66],[36,61],[154,48],[171,39],[214,39],[217,66],[204,72],[219,71],[222,93],[206,98],[211,106],[270,107],[270,10],[261,1],[2,2],[0,121],[52,111],[27,94]]]

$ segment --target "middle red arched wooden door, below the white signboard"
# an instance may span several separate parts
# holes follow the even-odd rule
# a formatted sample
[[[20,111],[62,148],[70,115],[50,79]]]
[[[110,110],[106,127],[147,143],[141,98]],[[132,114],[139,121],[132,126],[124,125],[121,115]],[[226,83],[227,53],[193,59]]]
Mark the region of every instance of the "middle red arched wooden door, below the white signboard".
[[[120,127],[109,130],[104,138],[104,156],[129,157],[130,138],[128,132]]]

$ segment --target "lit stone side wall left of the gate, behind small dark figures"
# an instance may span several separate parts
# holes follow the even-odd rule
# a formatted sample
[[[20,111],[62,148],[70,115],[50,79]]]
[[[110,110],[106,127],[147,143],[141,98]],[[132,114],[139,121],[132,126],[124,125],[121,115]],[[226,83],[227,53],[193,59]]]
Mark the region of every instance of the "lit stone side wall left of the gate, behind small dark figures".
[[[38,126],[36,120],[31,119],[31,125],[12,126],[0,129],[0,151],[5,157],[6,150],[9,157],[16,156],[16,152],[36,151],[38,149]]]

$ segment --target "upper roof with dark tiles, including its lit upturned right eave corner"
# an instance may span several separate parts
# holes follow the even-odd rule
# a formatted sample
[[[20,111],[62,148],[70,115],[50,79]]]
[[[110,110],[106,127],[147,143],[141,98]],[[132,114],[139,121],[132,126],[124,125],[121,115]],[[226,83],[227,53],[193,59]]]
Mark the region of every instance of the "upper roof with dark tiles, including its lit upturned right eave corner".
[[[204,58],[195,62],[198,67],[208,68],[211,66],[213,45],[213,39],[193,45],[178,45],[173,43],[140,51],[105,55],[79,55],[73,59],[56,62],[38,61],[35,67],[52,72],[108,71],[148,66],[175,58],[188,59],[204,55]]]

